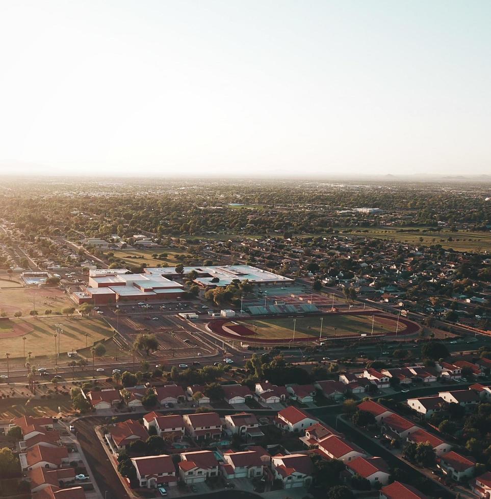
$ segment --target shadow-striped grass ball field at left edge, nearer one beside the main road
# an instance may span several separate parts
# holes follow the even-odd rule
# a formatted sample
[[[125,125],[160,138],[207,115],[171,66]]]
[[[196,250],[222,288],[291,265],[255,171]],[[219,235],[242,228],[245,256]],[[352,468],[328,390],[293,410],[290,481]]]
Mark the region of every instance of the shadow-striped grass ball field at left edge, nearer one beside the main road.
[[[33,352],[34,357],[54,356],[55,338],[53,335],[56,324],[61,324],[63,329],[60,337],[61,355],[72,349],[85,349],[86,334],[89,346],[113,335],[109,326],[99,319],[58,316],[12,319],[6,322],[0,321],[0,323],[0,352],[9,352],[11,357],[22,357],[24,351],[22,336],[25,338],[26,356],[29,351]],[[66,355],[64,357],[66,359]]]

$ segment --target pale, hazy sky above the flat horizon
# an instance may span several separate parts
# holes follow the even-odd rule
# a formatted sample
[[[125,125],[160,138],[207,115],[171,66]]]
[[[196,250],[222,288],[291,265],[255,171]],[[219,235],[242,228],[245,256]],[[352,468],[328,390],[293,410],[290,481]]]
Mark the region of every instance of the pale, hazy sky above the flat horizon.
[[[488,0],[0,0],[0,172],[491,174]]]

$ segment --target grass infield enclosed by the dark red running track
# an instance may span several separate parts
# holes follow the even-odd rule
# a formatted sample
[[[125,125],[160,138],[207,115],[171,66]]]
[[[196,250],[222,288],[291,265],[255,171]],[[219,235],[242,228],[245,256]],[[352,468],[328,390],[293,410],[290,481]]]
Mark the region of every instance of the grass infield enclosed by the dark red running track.
[[[237,321],[256,332],[254,338],[288,339],[293,338],[293,319],[257,319]],[[257,326],[257,329],[256,327]],[[390,319],[375,317],[374,333],[394,332],[397,323]],[[403,326],[404,327],[404,326]],[[319,338],[321,330],[320,317],[299,317],[295,325],[295,338]],[[399,328],[401,330],[401,328]],[[322,324],[322,337],[350,336],[372,332],[371,316],[325,315]]]

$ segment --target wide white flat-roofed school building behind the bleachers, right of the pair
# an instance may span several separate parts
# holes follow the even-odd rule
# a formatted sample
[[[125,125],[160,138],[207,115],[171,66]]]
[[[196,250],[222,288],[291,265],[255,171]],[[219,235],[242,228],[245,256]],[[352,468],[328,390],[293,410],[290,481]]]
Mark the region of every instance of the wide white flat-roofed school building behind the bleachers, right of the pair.
[[[277,275],[250,265],[184,267],[184,274],[188,274],[193,270],[198,274],[194,282],[201,287],[228,286],[234,280],[249,281],[256,286],[287,286],[294,282],[293,279],[283,275]],[[182,275],[175,271],[175,267],[147,267],[144,271],[145,274],[169,278]]]

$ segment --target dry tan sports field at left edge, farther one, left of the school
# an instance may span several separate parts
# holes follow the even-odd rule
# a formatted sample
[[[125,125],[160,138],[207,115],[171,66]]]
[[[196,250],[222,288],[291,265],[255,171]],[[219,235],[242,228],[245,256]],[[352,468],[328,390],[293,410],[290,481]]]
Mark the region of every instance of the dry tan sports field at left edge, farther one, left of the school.
[[[35,308],[43,315],[46,309],[56,313],[65,307],[73,307],[73,301],[58,288],[0,289],[0,312],[6,312],[9,317],[17,311],[29,315]]]

